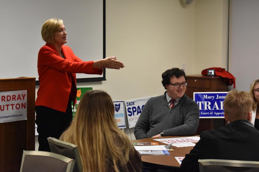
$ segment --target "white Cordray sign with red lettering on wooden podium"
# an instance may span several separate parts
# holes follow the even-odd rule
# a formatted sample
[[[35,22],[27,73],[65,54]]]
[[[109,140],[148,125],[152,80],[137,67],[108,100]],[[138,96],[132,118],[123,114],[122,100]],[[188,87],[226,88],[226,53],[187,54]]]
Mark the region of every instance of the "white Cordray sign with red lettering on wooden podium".
[[[27,120],[27,90],[0,92],[0,123]]]

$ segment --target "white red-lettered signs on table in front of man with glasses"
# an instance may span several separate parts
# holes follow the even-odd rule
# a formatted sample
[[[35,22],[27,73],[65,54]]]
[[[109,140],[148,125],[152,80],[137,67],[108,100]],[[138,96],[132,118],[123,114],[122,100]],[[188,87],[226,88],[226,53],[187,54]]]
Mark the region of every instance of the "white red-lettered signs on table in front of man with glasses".
[[[200,140],[200,137],[191,136],[191,137],[177,137],[177,138],[162,138],[154,139],[162,143],[171,144],[176,147],[186,147],[186,146],[195,146],[195,143]]]

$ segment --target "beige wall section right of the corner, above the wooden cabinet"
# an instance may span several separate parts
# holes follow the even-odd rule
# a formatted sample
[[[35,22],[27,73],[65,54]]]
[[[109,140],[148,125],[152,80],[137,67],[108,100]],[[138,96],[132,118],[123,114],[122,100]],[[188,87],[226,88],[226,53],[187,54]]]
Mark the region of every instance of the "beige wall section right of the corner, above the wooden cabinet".
[[[195,74],[209,67],[227,70],[228,1],[195,2]]]

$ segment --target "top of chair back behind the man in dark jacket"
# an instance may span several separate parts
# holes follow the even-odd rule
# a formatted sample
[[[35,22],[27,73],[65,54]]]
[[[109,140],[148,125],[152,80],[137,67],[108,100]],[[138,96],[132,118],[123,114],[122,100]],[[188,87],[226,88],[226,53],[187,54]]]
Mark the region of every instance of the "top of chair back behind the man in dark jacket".
[[[199,159],[200,172],[259,171],[257,161],[237,161],[224,159]]]

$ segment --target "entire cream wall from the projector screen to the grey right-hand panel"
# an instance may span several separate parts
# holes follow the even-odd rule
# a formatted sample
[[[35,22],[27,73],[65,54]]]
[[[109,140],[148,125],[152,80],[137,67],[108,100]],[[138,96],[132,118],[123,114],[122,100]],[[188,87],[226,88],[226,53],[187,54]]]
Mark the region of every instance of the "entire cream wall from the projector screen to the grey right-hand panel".
[[[225,4],[227,0],[190,5],[182,0],[106,0],[106,56],[117,56],[125,68],[106,69],[107,81],[77,86],[107,91],[113,101],[129,100],[163,94],[161,74],[182,68],[182,62],[187,75],[200,74],[211,62],[226,67]],[[208,55],[215,60],[205,60]],[[125,133],[135,139],[133,128]]]

